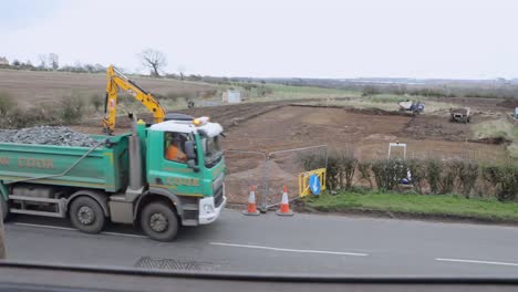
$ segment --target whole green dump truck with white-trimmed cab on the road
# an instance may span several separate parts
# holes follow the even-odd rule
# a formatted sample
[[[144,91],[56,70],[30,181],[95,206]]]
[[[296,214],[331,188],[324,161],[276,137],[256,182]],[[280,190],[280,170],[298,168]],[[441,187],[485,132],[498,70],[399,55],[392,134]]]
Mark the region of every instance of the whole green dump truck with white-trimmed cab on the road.
[[[84,232],[107,221],[139,225],[159,241],[179,226],[214,222],[225,207],[222,127],[172,119],[93,135],[94,147],[0,143],[0,206],[10,213],[70,218]],[[184,157],[167,157],[172,144]]]

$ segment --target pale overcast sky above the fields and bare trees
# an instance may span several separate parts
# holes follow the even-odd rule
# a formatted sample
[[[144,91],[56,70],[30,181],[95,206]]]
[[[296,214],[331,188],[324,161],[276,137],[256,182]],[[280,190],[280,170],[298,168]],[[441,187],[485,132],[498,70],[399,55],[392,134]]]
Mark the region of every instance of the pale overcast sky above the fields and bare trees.
[[[276,77],[518,77],[518,1],[2,1],[0,56]]]

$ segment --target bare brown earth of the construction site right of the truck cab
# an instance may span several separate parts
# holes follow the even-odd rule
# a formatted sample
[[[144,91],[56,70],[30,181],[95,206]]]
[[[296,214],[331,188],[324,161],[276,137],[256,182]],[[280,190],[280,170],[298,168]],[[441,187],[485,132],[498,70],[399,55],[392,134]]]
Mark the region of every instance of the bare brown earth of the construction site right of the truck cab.
[[[276,152],[325,144],[354,153],[360,159],[384,158],[388,143],[407,145],[408,158],[462,158],[499,161],[507,157],[505,146],[472,142],[469,125],[452,124],[439,116],[370,115],[344,108],[315,108],[286,105],[250,118],[227,133],[226,149]],[[283,184],[298,189],[303,169],[300,156],[322,149],[273,156],[266,170],[269,194],[279,199]],[[397,150],[395,155],[402,155]],[[247,184],[261,184],[265,164],[259,155],[228,155],[228,185],[232,201],[245,202]],[[251,169],[251,170],[250,170]],[[296,195],[296,194],[291,194]]]

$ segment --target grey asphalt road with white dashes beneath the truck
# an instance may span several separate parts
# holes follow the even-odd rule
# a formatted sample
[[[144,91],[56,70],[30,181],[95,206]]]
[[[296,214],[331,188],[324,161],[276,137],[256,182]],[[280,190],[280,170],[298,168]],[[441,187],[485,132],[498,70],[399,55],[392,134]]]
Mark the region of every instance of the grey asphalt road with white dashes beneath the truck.
[[[341,275],[516,277],[518,228],[225,210],[210,226],[156,242],[128,227],[101,234],[64,220],[18,216],[8,258],[82,265]]]

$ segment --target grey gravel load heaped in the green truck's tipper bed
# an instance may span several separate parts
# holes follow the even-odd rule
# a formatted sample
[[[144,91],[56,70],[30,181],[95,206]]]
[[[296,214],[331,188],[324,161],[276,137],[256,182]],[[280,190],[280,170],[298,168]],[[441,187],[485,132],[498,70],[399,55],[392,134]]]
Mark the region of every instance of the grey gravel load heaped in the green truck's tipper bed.
[[[93,147],[99,140],[68,127],[37,126],[0,131],[0,143]]]

